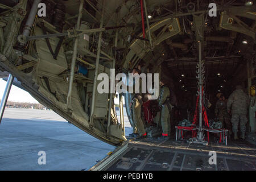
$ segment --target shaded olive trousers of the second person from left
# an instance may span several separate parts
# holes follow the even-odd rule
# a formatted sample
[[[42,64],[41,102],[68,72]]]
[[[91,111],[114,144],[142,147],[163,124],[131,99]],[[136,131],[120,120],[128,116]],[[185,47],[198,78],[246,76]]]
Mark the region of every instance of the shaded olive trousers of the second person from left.
[[[171,133],[170,111],[166,104],[161,109],[160,122],[162,125],[163,133],[170,135],[170,133]]]

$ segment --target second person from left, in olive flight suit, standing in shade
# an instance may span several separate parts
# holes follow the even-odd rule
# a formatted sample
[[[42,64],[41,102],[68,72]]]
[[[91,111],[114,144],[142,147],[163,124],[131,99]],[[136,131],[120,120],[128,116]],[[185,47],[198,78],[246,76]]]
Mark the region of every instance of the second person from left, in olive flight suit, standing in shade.
[[[163,81],[160,81],[160,96],[158,100],[158,106],[160,107],[160,123],[162,125],[162,136],[158,139],[168,139],[171,130],[170,123],[170,113],[171,113],[171,103],[170,103],[170,90],[168,86],[164,85]]]

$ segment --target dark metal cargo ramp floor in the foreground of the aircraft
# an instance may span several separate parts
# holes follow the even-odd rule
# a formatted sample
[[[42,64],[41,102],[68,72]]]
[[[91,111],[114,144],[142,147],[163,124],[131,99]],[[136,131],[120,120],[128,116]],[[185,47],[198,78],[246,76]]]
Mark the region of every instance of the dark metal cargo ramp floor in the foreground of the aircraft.
[[[209,151],[216,151],[217,163],[210,165]],[[210,142],[208,146],[185,140],[158,142],[130,140],[90,170],[106,171],[248,171],[256,170],[256,149],[249,142]]]

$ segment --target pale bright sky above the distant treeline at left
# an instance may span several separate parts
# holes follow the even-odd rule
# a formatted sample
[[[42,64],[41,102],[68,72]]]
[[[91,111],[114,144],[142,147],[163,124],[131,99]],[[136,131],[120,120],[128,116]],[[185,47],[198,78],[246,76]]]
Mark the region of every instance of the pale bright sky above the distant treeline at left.
[[[0,99],[3,97],[3,92],[5,92],[6,81],[0,78]],[[16,102],[30,102],[30,103],[39,103],[32,97],[28,92],[18,88],[17,86],[11,86],[11,92],[9,94],[9,101]]]

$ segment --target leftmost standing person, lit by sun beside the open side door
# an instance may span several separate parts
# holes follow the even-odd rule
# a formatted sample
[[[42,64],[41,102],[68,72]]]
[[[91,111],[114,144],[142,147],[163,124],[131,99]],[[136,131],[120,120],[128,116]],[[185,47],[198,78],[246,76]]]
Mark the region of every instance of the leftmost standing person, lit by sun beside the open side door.
[[[141,74],[139,69],[133,69],[133,74]],[[141,82],[140,82],[140,92],[141,92]],[[147,133],[144,128],[144,123],[141,117],[141,107],[143,104],[141,93],[133,93],[131,94],[133,100],[131,101],[131,112],[133,116],[133,134],[130,134],[130,137],[136,137],[139,135],[140,137],[146,137]]]

